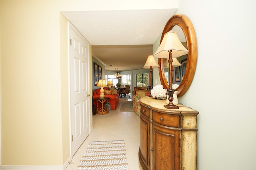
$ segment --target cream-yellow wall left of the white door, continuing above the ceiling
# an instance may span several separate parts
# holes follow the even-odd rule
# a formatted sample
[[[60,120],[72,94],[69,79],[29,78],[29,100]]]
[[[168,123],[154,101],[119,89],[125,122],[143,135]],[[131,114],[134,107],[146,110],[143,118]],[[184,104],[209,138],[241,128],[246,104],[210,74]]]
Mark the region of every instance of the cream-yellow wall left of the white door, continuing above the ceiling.
[[[171,2],[177,8],[178,0]],[[167,3],[1,0],[1,164],[62,166],[70,156],[67,20],[60,12],[166,8]]]

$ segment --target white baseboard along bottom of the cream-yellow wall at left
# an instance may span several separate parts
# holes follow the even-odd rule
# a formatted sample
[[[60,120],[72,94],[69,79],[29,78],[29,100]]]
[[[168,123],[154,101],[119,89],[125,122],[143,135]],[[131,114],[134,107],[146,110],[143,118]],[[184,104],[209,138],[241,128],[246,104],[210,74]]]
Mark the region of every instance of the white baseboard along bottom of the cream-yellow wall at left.
[[[65,168],[66,169],[66,168]],[[65,170],[64,166],[14,166],[0,165],[0,170]]]

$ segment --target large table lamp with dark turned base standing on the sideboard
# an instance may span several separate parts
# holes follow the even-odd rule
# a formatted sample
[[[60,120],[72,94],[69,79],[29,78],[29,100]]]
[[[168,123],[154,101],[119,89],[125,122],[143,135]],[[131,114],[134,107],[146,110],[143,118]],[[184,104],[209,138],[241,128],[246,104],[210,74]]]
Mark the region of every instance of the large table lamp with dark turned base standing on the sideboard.
[[[160,46],[158,47],[156,53],[154,54],[154,57],[158,58],[165,58],[168,59],[169,63],[169,88],[167,90],[169,94],[169,104],[164,105],[165,108],[167,109],[178,109],[178,106],[175,106],[172,101],[173,101],[173,94],[174,94],[174,89],[172,89],[172,58],[177,58],[182,55],[188,54],[188,50],[182,45],[180,42],[176,32],[169,31],[164,34],[164,38],[162,39],[162,42]]]

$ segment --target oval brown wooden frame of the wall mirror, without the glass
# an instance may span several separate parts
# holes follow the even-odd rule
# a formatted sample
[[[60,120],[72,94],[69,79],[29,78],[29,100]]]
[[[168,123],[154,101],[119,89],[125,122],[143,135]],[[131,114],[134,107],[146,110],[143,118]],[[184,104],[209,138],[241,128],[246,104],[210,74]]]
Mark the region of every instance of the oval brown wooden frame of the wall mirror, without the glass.
[[[162,33],[160,44],[162,42],[162,39],[164,38],[164,34],[170,31],[175,25],[180,26],[180,28],[182,29],[186,39],[187,48],[188,48],[187,65],[186,65],[185,74],[179,87],[175,89],[178,91],[177,96],[180,97],[186,93],[186,91],[188,90],[194,78],[194,73],[196,70],[196,60],[197,60],[197,43],[196,43],[195,29],[191,21],[189,20],[189,18],[184,14],[176,14],[167,21]],[[161,84],[163,88],[168,89],[169,85],[164,76],[164,59],[159,58],[158,64],[160,65],[158,69],[159,69]]]

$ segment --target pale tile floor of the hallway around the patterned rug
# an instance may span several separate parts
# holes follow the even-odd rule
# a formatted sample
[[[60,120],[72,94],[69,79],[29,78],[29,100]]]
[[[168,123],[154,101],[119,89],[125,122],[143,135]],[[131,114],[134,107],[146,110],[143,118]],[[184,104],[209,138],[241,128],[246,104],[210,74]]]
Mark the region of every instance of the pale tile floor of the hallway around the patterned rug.
[[[74,154],[72,163],[68,165],[66,170],[76,170],[80,164],[80,160],[84,155],[86,146],[90,141],[111,141],[124,140],[126,147],[126,158],[129,170],[140,170],[138,163],[138,150],[140,146],[140,118],[134,111],[120,112],[120,107],[124,100],[132,100],[120,98],[116,110],[111,110],[105,115],[93,115],[93,131],[86,138],[81,147]]]

